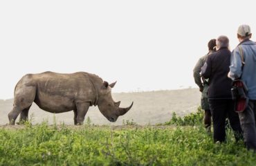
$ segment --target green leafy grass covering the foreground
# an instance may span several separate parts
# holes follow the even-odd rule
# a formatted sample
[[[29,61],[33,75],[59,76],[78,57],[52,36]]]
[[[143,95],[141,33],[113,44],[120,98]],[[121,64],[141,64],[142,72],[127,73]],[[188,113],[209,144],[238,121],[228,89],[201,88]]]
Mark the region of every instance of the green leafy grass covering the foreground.
[[[70,127],[44,122],[27,123],[19,129],[1,128],[0,165],[256,164],[256,154],[247,151],[243,142],[235,142],[229,130],[226,143],[214,144],[212,136],[197,123],[160,127],[127,124]]]

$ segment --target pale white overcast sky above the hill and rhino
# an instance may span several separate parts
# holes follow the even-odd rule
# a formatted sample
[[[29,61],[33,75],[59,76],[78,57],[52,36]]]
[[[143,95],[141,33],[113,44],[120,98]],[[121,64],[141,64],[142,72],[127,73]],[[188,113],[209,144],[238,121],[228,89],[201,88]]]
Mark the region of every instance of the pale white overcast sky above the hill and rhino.
[[[256,33],[254,1],[0,1],[0,99],[26,73],[95,73],[113,92],[196,87],[192,69],[219,35]]]

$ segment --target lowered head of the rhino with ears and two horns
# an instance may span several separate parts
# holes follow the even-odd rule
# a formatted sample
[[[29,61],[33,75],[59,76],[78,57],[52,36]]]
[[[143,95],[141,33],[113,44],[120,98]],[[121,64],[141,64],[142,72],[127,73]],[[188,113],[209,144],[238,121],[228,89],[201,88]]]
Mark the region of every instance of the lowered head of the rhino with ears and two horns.
[[[98,98],[98,108],[102,115],[107,118],[110,122],[116,122],[118,116],[125,115],[127,111],[129,111],[134,104],[127,108],[120,108],[121,102],[115,102],[111,95],[111,89],[115,86],[116,82],[109,84],[108,82],[103,82],[103,85],[99,91],[99,98]]]

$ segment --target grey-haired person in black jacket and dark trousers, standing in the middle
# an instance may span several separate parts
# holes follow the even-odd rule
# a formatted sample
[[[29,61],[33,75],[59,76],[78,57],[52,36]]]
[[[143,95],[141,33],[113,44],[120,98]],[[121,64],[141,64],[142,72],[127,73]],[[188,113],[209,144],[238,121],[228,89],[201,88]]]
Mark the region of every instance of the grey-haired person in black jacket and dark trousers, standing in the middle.
[[[208,56],[201,70],[201,75],[209,78],[208,100],[212,112],[213,138],[214,142],[226,140],[225,122],[228,116],[235,138],[239,140],[242,131],[231,96],[232,80],[228,77],[231,56],[228,37],[218,37],[216,45],[217,51]]]

